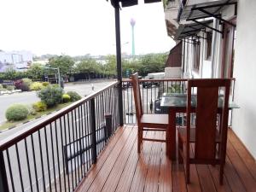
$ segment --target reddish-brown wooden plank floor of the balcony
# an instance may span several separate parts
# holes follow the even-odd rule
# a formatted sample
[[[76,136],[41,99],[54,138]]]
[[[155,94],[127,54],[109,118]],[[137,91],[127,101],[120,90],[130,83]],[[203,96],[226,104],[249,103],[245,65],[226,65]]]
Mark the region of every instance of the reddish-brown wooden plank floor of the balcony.
[[[164,137],[164,133],[147,133]],[[150,135],[151,134],[151,135]],[[229,132],[224,185],[218,183],[218,166],[190,166],[186,185],[183,165],[166,157],[164,143],[144,142],[137,154],[137,127],[119,128],[77,191],[256,191],[256,164],[232,131]]]

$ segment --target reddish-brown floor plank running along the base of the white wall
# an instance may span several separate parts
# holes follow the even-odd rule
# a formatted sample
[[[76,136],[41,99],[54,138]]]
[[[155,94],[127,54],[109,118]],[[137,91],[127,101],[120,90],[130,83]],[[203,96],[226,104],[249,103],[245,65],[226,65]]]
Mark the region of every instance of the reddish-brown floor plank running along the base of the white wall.
[[[253,160],[253,156],[249,154],[249,152],[247,151],[247,148],[245,148],[245,146],[241,143],[241,141],[236,136],[234,131],[229,130],[228,139],[236,149],[236,153],[239,154],[245,166],[247,166],[247,169],[252,174],[253,179],[256,181],[256,163],[255,163],[256,161]]]

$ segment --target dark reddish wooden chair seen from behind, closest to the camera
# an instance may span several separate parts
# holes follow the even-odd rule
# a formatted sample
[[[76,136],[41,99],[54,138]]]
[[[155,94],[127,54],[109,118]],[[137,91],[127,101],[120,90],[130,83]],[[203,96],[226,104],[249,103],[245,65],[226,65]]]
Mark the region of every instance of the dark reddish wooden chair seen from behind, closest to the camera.
[[[196,108],[191,106],[192,88],[197,92]],[[223,94],[223,92],[224,99],[218,103],[219,93]],[[190,164],[212,166],[218,164],[220,166],[219,182],[223,183],[229,96],[230,79],[191,79],[188,81],[187,125],[177,129],[178,160],[184,162],[187,183],[189,183]],[[195,113],[195,127],[190,125],[191,113]],[[218,114],[221,115],[219,125],[217,125]],[[191,143],[195,144],[194,153],[190,148]]]

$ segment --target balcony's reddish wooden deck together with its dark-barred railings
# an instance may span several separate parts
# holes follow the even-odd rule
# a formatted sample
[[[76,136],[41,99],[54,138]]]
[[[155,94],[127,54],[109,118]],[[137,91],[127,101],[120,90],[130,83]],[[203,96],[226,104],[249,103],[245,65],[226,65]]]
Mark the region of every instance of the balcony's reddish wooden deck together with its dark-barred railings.
[[[191,183],[186,185],[183,165],[166,157],[163,143],[145,142],[142,154],[137,154],[131,82],[123,84],[124,126],[119,126],[119,84],[114,82],[1,141],[0,191],[255,189],[255,162],[231,129],[223,186],[218,184],[218,166],[202,165],[191,166]],[[165,113],[161,94],[185,92],[186,80],[141,80],[141,91],[144,113]],[[183,123],[183,114],[177,115],[177,125]],[[165,137],[153,134],[147,132],[146,137]]]

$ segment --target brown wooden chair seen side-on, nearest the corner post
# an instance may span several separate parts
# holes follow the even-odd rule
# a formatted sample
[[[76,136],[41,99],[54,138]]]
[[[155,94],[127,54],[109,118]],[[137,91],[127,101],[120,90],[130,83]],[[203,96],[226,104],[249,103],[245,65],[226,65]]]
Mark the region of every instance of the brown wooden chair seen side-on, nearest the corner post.
[[[134,101],[136,106],[137,115],[137,126],[138,126],[138,139],[137,139],[137,152],[141,152],[141,146],[143,140],[154,141],[154,142],[165,142],[167,144],[167,133],[166,139],[154,139],[144,138],[143,131],[166,131],[168,127],[168,114],[144,114],[143,103],[141,100],[140,85],[138,82],[138,74],[131,75],[132,87],[134,92]]]

